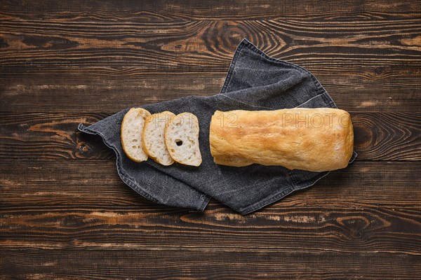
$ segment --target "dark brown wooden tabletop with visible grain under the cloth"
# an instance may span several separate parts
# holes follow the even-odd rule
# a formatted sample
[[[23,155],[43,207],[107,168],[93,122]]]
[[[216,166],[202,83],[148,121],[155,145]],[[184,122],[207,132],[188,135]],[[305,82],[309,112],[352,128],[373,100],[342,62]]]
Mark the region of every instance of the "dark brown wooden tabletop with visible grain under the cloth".
[[[0,1],[0,279],[420,279],[421,2]],[[350,111],[359,158],[248,216],[149,202],[77,132],[219,92],[243,37]]]

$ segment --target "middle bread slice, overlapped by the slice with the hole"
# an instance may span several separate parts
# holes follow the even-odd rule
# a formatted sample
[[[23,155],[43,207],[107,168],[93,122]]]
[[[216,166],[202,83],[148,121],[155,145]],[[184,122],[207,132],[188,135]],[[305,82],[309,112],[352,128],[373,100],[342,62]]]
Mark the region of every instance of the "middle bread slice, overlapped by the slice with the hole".
[[[173,116],[175,114],[170,111],[152,114],[147,118],[142,132],[143,151],[152,160],[165,166],[174,163],[165,144],[165,128]]]

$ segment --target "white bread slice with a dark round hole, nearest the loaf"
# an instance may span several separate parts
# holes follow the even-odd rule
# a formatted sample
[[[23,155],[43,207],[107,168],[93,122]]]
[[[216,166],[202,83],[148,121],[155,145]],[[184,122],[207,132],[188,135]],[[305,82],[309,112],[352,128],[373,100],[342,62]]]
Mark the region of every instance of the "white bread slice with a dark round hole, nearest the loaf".
[[[171,158],[182,165],[201,165],[199,120],[192,113],[173,116],[166,125],[165,144]]]

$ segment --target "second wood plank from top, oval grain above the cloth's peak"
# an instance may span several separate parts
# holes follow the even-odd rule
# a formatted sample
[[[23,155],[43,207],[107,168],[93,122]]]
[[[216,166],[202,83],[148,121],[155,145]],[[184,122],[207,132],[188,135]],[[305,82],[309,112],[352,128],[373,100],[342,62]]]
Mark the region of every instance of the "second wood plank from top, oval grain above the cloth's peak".
[[[413,20],[1,22],[3,67],[121,67],[148,71],[225,70],[248,37],[269,55],[306,66],[420,66],[421,22]],[[339,65],[337,65],[339,64]],[[339,67],[338,67],[339,68]]]

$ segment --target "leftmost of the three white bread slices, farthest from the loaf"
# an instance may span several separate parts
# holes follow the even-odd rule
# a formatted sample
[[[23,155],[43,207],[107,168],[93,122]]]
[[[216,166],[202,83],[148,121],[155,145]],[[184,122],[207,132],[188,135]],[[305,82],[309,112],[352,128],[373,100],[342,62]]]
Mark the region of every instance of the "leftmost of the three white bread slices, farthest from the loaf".
[[[147,154],[142,147],[142,131],[149,116],[151,113],[145,109],[132,108],[121,122],[121,146],[128,158],[135,162],[147,160]]]

